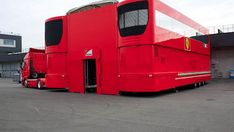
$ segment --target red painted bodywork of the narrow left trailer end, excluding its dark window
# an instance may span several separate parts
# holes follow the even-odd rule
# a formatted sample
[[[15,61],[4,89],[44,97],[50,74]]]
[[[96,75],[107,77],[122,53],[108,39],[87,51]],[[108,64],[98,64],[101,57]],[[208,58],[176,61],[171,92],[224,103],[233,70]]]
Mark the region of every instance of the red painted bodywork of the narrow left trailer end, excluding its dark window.
[[[67,88],[67,18],[66,16],[53,17],[47,21],[62,19],[63,35],[59,45],[46,46],[47,71],[46,87],[47,88]]]

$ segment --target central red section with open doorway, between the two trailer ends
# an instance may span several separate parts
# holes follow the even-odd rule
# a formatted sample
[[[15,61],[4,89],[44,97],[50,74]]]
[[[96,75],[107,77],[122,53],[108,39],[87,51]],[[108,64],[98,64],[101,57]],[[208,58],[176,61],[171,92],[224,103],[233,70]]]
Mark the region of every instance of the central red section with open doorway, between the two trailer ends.
[[[117,2],[96,2],[68,12],[69,91],[118,94]]]

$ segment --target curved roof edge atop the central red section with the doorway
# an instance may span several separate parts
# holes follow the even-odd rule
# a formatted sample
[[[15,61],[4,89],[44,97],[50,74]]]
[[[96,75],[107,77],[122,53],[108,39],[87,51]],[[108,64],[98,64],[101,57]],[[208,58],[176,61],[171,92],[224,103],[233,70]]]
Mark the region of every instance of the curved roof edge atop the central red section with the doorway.
[[[111,5],[115,3],[118,3],[118,1],[117,0],[101,0],[101,1],[92,2],[88,5],[72,8],[71,10],[67,12],[67,15],[77,13],[77,12],[83,12],[86,10],[95,9],[95,8],[99,8],[105,5]]]

